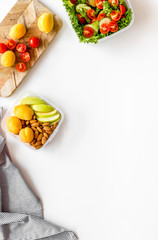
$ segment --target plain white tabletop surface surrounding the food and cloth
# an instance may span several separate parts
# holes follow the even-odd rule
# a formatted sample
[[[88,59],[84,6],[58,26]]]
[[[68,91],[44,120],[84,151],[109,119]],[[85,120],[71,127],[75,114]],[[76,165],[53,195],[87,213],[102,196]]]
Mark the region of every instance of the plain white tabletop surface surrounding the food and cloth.
[[[158,1],[131,0],[133,27],[81,44],[61,1],[42,0],[63,28],[15,93],[54,101],[65,121],[45,151],[7,135],[13,161],[41,198],[45,219],[81,240],[158,239]],[[15,0],[1,1],[0,20]],[[3,10],[3,12],[2,12]]]

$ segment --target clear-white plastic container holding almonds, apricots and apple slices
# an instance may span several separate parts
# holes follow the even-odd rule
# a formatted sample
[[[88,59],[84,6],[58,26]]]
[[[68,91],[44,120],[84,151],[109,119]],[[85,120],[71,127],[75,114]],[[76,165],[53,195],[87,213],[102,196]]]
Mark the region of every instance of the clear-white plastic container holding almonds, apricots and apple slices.
[[[55,130],[53,131],[53,133],[50,135],[50,137],[48,138],[47,142],[43,145],[43,147],[41,147],[40,149],[35,149],[33,148],[32,146],[30,146],[30,144],[28,143],[24,143],[20,140],[19,136],[18,135],[15,135],[14,133],[11,133],[8,131],[7,129],[7,118],[10,117],[10,116],[15,116],[14,113],[13,113],[13,110],[14,110],[14,107],[16,105],[19,105],[21,100],[25,97],[29,97],[29,96],[34,96],[34,97],[40,97],[42,100],[44,100],[45,102],[47,102],[49,105],[53,106],[56,110],[58,110],[58,112],[61,114],[61,119],[59,121],[59,124],[58,126],[55,128]],[[14,104],[7,110],[7,112],[5,113],[4,117],[2,118],[2,121],[1,121],[1,127],[2,127],[2,130],[11,134],[13,136],[13,138],[15,138],[17,141],[19,141],[22,145],[25,145],[35,151],[40,151],[40,150],[43,150],[45,149],[45,147],[47,146],[47,144],[49,144],[55,137],[55,135],[57,134],[62,122],[64,120],[64,113],[62,111],[61,108],[59,108],[58,106],[56,106],[54,103],[50,102],[50,101],[47,101],[47,99],[43,96],[38,96],[37,94],[29,91],[29,92],[25,92],[23,95],[20,96],[20,98],[18,98]]]

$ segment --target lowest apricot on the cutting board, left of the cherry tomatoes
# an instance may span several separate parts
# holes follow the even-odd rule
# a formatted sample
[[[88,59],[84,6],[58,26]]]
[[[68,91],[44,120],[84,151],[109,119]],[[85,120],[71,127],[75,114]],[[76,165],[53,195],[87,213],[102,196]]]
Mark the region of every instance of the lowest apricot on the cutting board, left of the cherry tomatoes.
[[[1,64],[4,67],[11,67],[15,63],[15,53],[12,51],[6,51],[1,57]]]

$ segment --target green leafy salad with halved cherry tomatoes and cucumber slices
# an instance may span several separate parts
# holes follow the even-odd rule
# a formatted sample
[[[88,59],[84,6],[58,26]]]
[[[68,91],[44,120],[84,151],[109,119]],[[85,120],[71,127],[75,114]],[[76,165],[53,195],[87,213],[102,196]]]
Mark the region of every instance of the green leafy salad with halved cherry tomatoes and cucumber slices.
[[[80,42],[97,43],[132,20],[132,10],[124,0],[63,0]]]

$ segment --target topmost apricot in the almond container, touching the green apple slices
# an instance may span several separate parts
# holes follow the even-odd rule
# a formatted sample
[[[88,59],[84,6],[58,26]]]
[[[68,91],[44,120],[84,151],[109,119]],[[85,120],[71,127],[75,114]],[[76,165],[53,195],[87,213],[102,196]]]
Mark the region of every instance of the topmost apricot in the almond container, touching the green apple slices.
[[[16,117],[27,121],[32,119],[34,112],[26,105],[18,105],[14,108],[14,114]]]

